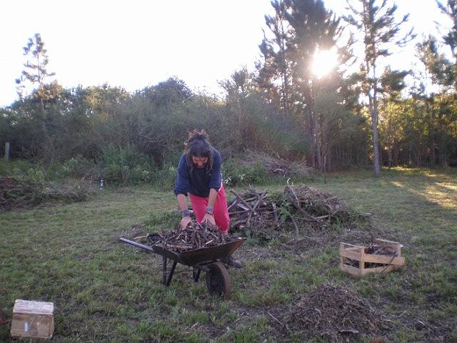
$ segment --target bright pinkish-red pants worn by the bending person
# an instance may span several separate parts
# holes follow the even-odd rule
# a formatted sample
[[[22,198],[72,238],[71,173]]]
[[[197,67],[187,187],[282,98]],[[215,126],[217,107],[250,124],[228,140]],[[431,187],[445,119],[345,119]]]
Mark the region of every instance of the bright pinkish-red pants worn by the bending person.
[[[191,199],[192,209],[194,210],[197,222],[203,222],[206,214],[206,207],[208,206],[208,198],[198,197],[194,194],[189,194]],[[227,208],[227,197],[224,186],[217,192],[216,201],[214,202],[214,221],[224,234],[229,233],[229,209]]]

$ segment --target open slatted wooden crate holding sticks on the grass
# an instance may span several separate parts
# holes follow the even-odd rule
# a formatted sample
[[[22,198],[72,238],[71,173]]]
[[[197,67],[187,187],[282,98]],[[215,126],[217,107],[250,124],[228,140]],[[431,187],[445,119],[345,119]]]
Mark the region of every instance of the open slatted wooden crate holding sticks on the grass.
[[[405,264],[404,257],[401,257],[403,246],[400,243],[375,239],[374,244],[390,249],[393,254],[367,254],[367,247],[340,243],[340,269],[359,277],[368,273],[388,273]]]

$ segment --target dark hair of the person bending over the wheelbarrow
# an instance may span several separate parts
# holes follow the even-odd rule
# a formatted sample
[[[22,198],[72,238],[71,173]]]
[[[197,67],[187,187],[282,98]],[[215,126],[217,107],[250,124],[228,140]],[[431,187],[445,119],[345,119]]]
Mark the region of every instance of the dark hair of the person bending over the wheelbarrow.
[[[209,173],[213,169],[213,146],[211,146],[205,130],[194,129],[189,132],[189,137],[184,141],[184,154],[186,154],[187,165],[191,166],[191,173],[194,171],[192,156],[208,157],[206,172]]]

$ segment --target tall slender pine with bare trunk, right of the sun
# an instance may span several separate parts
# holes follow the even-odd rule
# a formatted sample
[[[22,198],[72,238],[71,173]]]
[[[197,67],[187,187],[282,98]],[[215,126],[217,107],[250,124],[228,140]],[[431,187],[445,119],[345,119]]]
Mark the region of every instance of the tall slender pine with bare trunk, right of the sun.
[[[371,116],[371,131],[373,134],[373,172],[376,177],[381,175],[381,161],[378,142],[378,91],[381,78],[378,76],[378,61],[389,56],[392,46],[404,46],[413,39],[412,30],[398,37],[401,25],[408,21],[408,14],[400,21],[396,21],[396,4],[388,4],[382,0],[378,5],[377,0],[346,0],[351,14],[346,16],[346,21],[363,34],[364,44],[364,90],[368,97],[368,107]],[[360,6],[356,6],[359,4]]]

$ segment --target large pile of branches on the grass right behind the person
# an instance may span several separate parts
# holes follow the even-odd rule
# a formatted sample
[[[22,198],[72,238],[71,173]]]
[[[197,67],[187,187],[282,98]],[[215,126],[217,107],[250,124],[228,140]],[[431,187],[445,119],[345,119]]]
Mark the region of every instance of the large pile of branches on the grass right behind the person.
[[[229,204],[231,229],[264,239],[272,238],[274,231],[293,226],[298,232],[301,227],[321,229],[328,223],[350,223],[351,216],[343,202],[329,193],[310,187],[293,189],[287,186],[282,195],[272,197],[266,191],[258,193],[250,187],[244,194],[235,195]]]

